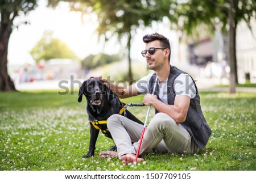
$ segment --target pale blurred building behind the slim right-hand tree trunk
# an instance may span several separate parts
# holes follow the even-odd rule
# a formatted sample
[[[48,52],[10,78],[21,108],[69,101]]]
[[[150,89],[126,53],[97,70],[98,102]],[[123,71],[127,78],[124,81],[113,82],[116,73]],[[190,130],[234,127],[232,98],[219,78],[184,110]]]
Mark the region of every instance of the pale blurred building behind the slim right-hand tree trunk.
[[[236,32],[238,79],[244,80],[246,73],[256,78],[256,20],[251,21],[251,30],[245,22],[237,26]],[[207,77],[222,77],[229,73],[228,37],[216,27],[214,37],[201,37],[188,45],[189,62],[205,69]],[[212,73],[214,71],[215,73]],[[225,72],[225,73],[224,73]]]

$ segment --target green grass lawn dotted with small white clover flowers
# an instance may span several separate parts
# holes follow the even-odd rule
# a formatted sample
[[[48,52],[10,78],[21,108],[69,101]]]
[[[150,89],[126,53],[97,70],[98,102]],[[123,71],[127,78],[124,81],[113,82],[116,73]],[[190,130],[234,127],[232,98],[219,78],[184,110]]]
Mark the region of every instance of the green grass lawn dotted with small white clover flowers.
[[[96,155],[88,151],[86,101],[57,91],[0,93],[0,170],[256,170],[256,94],[201,92],[212,136],[197,155],[148,154],[146,164],[123,166],[98,158],[113,141],[100,134]],[[141,103],[142,96],[124,99]],[[147,107],[129,108],[144,121]],[[151,109],[150,118],[154,115]]]

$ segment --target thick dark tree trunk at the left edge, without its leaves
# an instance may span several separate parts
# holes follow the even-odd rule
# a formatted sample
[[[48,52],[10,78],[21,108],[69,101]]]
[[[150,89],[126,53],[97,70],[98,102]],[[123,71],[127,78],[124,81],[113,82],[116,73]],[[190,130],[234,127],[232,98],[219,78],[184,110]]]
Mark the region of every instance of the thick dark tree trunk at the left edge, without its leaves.
[[[4,15],[2,15],[3,18]],[[12,32],[11,23],[1,20],[0,27],[0,92],[16,91],[13,81],[7,71],[7,52],[10,35]]]

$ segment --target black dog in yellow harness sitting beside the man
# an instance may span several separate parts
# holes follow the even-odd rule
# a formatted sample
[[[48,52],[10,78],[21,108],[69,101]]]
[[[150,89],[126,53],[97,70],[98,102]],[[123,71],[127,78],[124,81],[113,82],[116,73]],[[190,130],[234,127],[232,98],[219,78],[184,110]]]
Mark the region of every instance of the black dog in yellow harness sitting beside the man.
[[[106,125],[106,120],[111,115],[119,113],[143,125],[143,122],[139,121],[137,117],[127,111],[124,107],[125,103],[122,103],[118,96],[115,95],[109,87],[105,86],[100,79],[90,78],[84,81],[79,90],[79,102],[82,101],[82,95],[85,95],[87,100],[86,111],[90,121],[89,151],[84,158],[89,158],[94,155],[100,130],[106,137],[113,139]],[[110,147],[110,149],[116,151],[115,146]]]

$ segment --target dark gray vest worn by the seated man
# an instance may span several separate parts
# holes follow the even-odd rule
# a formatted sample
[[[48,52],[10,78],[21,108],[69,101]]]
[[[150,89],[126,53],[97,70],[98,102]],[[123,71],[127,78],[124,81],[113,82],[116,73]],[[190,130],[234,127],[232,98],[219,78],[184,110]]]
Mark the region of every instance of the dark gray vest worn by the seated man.
[[[181,73],[185,73],[185,72],[177,69],[177,67],[175,66],[171,66],[170,74],[168,76],[168,82],[167,82],[168,104],[170,105],[174,104],[174,99],[176,96],[174,91],[174,81]],[[148,87],[149,87],[148,90],[150,91],[150,94],[153,91],[155,80],[156,80],[156,74],[154,73],[150,78],[150,82],[148,84]],[[193,82],[195,83],[194,80]],[[195,84],[195,87],[196,87],[196,84]],[[156,85],[156,90],[154,94],[158,95],[158,84]],[[158,111],[156,111],[156,113],[157,112]],[[197,91],[197,87],[196,87],[195,98],[190,99],[187,118],[181,125],[183,125],[185,129],[187,129],[190,136],[196,142],[196,145],[201,150],[203,150],[205,145],[207,145],[207,142],[210,137],[210,134],[212,133],[212,130],[209,128],[209,125],[204,118],[201,105],[200,105],[200,97]]]

